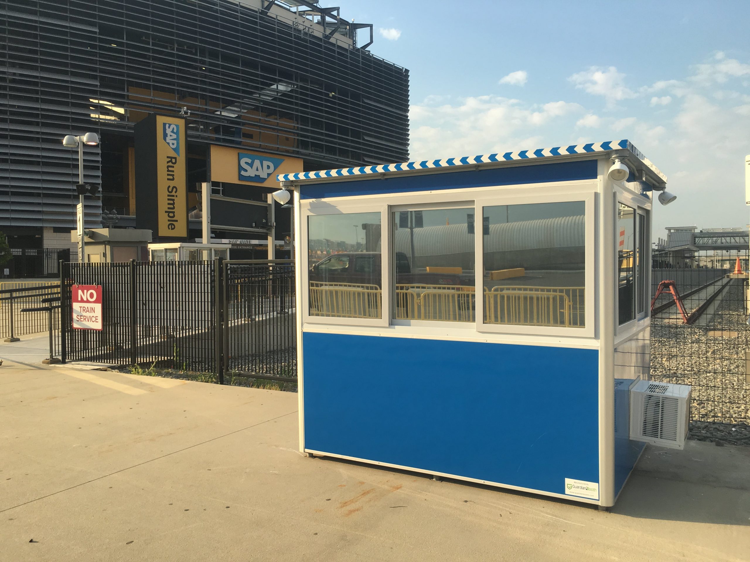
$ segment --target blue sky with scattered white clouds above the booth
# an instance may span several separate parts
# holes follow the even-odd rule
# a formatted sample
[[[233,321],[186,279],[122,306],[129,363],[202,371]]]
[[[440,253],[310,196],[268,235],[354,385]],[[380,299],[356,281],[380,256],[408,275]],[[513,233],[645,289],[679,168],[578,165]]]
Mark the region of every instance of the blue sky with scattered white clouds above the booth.
[[[630,139],[678,196],[655,237],[748,223],[750,1],[322,5],[410,70],[412,159]]]

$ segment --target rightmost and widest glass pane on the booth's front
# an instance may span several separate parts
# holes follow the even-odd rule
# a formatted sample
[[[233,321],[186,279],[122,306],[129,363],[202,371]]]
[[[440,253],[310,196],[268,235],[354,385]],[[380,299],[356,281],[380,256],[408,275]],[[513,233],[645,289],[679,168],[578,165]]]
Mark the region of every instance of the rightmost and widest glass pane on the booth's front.
[[[484,323],[586,324],[586,202],[484,207]]]

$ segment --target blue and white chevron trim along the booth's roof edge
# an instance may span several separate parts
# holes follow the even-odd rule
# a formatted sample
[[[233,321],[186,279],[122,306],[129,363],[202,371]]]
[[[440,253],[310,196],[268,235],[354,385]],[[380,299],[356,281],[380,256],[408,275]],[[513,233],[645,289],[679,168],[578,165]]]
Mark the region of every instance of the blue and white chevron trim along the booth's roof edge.
[[[585,145],[556,146],[553,148],[537,148],[517,152],[505,152],[501,154],[480,154],[478,156],[464,156],[462,158],[445,158],[443,160],[422,160],[420,162],[402,162],[398,164],[380,164],[380,166],[359,166],[356,168],[340,168],[335,170],[318,170],[317,172],[296,172],[294,174],[279,174],[277,181],[316,180],[326,178],[343,178],[351,175],[383,174],[387,172],[404,172],[406,170],[419,170],[429,168],[446,168],[450,166],[471,166],[490,162],[506,162],[510,160],[538,160],[546,157],[560,157],[568,154],[595,154],[597,152],[608,152],[625,149],[640,160],[651,172],[664,182],[667,176],[651,163],[651,160],[643,156],[643,153],[635,148],[628,139],[607,142],[587,142]]]

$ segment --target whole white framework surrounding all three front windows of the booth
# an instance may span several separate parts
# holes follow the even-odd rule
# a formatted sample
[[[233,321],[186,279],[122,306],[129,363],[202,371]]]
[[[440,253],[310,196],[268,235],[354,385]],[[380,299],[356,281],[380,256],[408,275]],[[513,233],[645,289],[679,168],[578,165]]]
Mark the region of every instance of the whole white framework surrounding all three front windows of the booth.
[[[303,188],[304,189],[304,188]],[[456,190],[436,190],[420,192],[400,192],[377,194],[368,196],[332,197],[326,199],[301,199],[299,201],[299,241],[300,244],[300,306],[302,308],[302,326],[309,325],[312,329],[331,329],[336,331],[343,327],[365,327],[374,330],[378,327],[396,330],[404,336],[413,336],[418,332],[414,329],[425,329],[425,334],[443,336],[452,334],[456,337],[481,339],[484,337],[495,339],[508,336],[508,341],[526,341],[526,337],[542,342],[550,337],[566,337],[575,339],[595,339],[596,321],[595,306],[598,303],[598,286],[596,284],[595,252],[598,244],[595,241],[595,225],[598,217],[596,196],[601,189],[598,179],[581,181],[564,181],[539,184],[517,184],[502,186],[462,187]],[[586,326],[583,328],[556,328],[545,326],[519,326],[516,324],[484,324],[484,303],[480,301],[479,314],[473,322],[452,321],[396,321],[393,318],[392,280],[395,271],[395,254],[392,248],[391,217],[395,211],[425,211],[436,208],[473,208],[475,217],[475,270],[484,271],[484,237],[482,207],[488,205],[515,205],[523,203],[583,201],[586,204]],[[335,316],[311,316],[309,314],[309,252],[308,252],[308,217],[318,214],[341,213],[372,213],[380,211],[381,221],[381,290],[383,315],[381,318],[341,318]],[[479,285],[482,295],[483,280],[475,275],[475,291]],[[437,330],[437,331],[436,331]],[[378,332],[374,332],[378,333]],[[419,332],[422,333],[422,332]],[[520,338],[520,339],[519,339]],[[490,341],[487,339],[487,341]]]

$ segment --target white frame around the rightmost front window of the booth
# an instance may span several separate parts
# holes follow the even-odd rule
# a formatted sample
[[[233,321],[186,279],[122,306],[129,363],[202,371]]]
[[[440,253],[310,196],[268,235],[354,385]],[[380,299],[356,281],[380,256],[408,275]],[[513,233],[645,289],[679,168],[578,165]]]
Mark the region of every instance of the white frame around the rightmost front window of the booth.
[[[475,198],[475,217],[482,217],[481,221],[475,218],[475,233],[484,232],[484,207],[497,205],[532,205],[535,203],[562,203],[582,201],[585,208],[585,257],[584,257],[584,283],[585,306],[584,327],[551,327],[551,326],[525,326],[518,324],[487,324],[484,322],[484,235],[481,235],[479,243],[475,244],[477,264],[476,269],[481,272],[476,276],[475,292],[477,294],[476,331],[478,333],[508,333],[536,336],[568,336],[593,338],[595,336],[595,190],[597,182],[589,182],[573,186],[550,186],[539,188],[533,193],[493,193],[487,196]],[[481,295],[481,296],[480,296]]]

